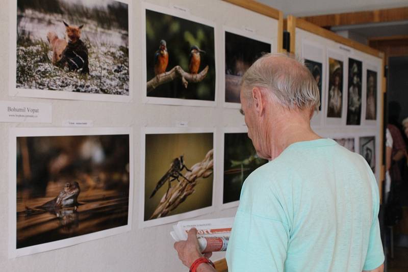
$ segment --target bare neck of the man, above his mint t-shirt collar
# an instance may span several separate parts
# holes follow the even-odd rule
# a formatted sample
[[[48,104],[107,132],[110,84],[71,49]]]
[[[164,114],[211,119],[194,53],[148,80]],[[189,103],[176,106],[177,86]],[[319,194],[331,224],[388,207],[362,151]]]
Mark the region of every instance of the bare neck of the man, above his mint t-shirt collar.
[[[280,121],[270,124],[268,131],[271,160],[293,143],[321,139],[310,127],[309,117],[299,112],[287,113]]]

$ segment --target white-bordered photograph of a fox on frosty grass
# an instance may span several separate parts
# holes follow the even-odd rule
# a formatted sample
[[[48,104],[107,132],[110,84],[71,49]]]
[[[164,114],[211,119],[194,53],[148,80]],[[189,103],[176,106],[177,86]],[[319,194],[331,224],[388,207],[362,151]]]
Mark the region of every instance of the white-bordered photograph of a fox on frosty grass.
[[[11,96],[132,100],[131,1],[12,3]]]

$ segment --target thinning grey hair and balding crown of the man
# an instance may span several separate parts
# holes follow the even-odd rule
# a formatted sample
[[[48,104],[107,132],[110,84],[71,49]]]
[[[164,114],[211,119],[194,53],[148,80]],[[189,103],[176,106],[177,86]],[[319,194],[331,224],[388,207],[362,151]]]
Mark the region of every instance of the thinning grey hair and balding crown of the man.
[[[278,59],[287,59],[285,65]],[[252,64],[241,79],[243,95],[249,101],[253,87],[270,90],[272,99],[290,109],[317,111],[320,105],[319,88],[309,69],[283,53],[267,53]]]

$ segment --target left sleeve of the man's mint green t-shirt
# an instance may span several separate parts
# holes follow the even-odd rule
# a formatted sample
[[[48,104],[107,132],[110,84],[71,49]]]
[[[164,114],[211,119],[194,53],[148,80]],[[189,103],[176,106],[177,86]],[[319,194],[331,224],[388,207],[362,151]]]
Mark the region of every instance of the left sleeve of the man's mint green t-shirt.
[[[263,187],[262,191],[262,186],[251,186],[248,179],[245,183],[249,186],[242,189],[227,248],[228,269],[283,272],[289,228],[282,220],[282,205],[269,189]]]

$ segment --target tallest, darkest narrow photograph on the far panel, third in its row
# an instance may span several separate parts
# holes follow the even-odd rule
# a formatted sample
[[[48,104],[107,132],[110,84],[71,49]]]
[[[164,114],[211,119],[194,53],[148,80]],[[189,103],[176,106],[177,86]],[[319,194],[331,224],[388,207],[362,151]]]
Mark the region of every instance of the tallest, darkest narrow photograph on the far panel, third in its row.
[[[348,59],[347,125],[360,125],[362,62]]]

